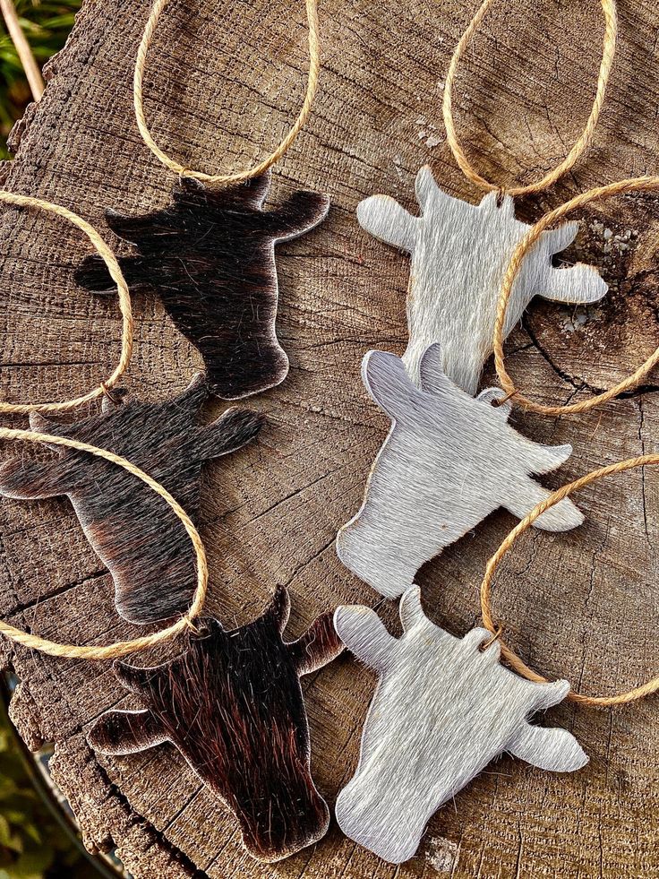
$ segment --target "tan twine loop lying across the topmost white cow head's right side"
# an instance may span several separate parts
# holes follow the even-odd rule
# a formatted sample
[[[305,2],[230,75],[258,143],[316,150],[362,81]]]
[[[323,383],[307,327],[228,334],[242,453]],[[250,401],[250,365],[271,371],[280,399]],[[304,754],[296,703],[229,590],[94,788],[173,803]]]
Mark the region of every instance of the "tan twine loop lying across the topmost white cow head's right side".
[[[561,204],[561,207],[555,211],[545,214],[542,220],[539,220],[533,228],[531,228],[526,236],[520,241],[515,253],[512,254],[508,269],[506,271],[503,283],[501,285],[501,295],[497,306],[497,316],[494,323],[494,339],[492,348],[494,349],[494,365],[496,366],[497,375],[501,387],[506,392],[507,398],[512,399],[513,404],[520,406],[522,409],[530,409],[532,412],[539,412],[543,415],[574,415],[578,412],[586,412],[588,409],[595,409],[595,406],[601,406],[603,403],[612,400],[620,393],[633,390],[638,383],[648,375],[649,372],[659,363],[659,348],[646,359],[645,363],[638,367],[635,373],[629,375],[628,378],[614,384],[608,391],[589,397],[587,400],[570,403],[569,406],[543,406],[535,403],[525,397],[515,386],[505,366],[503,355],[503,327],[506,322],[506,311],[512,294],[513,284],[518,276],[519,269],[524,262],[524,257],[528,251],[535,245],[535,242],[543,234],[546,228],[552,226],[557,220],[562,220],[571,211],[576,208],[584,207],[590,202],[598,199],[606,198],[611,195],[620,195],[630,192],[653,192],[659,190],[659,177],[631,177],[629,180],[620,180],[618,183],[612,183],[606,186],[600,186],[591,189],[587,193],[577,195],[571,201]]]

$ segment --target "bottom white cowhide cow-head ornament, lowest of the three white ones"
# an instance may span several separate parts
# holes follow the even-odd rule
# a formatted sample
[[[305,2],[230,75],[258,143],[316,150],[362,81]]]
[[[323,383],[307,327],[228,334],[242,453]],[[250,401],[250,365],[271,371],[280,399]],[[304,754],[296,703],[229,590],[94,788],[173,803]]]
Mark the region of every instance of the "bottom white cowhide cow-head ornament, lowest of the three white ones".
[[[392,864],[415,854],[430,817],[499,754],[569,772],[588,762],[571,733],[528,719],[561,702],[567,681],[533,684],[499,662],[487,629],[464,638],[424,615],[418,587],[400,601],[404,633],[391,637],[371,608],[338,608],[347,648],[378,673],[359,764],[337,798],[341,830]]]

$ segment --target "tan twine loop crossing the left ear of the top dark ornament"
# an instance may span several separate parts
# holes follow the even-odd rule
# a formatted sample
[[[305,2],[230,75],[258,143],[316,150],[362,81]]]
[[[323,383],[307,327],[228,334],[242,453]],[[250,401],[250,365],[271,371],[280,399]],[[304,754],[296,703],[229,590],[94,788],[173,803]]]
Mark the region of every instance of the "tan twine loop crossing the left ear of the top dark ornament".
[[[102,394],[106,393],[103,388],[112,388],[118,380],[124,375],[124,372],[131,362],[133,355],[133,312],[131,310],[131,295],[128,285],[124,279],[124,275],[119,268],[115,254],[112,253],[102,237],[98,234],[93,226],[90,226],[86,220],[82,220],[78,214],[63,208],[59,204],[44,202],[40,198],[32,198],[30,195],[17,195],[0,190],[0,202],[14,204],[20,208],[38,208],[39,211],[48,211],[54,213],[58,217],[64,217],[74,226],[77,226],[90,239],[92,245],[96,248],[98,255],[107,265],[112,280],[116,283],[116,289],[119,294],[119,308],[123,321],[122,337],[121,337],[121,355],[114,372],[107,376],[104,382],[101,382],[93,391],[82,394],[81,397],[74,397],[73,400],[51,403],[7,403],[0,401],[0,412],[12,412],[13,414],[25,415],[28,412],[61,412],[66,409],[73,409],[82,403],[96,400]]]

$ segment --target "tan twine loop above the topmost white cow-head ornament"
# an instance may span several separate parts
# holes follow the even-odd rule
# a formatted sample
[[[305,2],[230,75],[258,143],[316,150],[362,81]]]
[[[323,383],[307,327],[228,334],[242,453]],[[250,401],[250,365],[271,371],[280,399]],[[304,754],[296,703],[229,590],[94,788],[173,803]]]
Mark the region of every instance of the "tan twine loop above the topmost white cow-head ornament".
[[[595,91],[595,100],[593,102],[593,108],[590,111],[590,116],[588,116],[586,127],[584,128],[582,134],[579,136],[577,142],[575,142],[574,146],[569,151],[568,155],[565,157],[565,159],[561,161],[559,165],[556,166],[556,168],[553,168],[552,171],[550,171],[541,180],[538,180],[535,183],[526,186],[515,186],[507,190],[507,193],[509,195],[527,195],[531,193],[539,193],[542,192],[543,189],[547,189],[549,186],[552,186],[560,177],[562,177],[563,174],[565,174],[567,171],[569,171],[570,168],[574,166],[581,154],[586,151],[586,149],[593,140],[593,135],[595,134],[595,126],[597,125],[597,120],[599,119],[604,102],[606,86],[609,82],[609,74],[611,73],[613,56],[615,55],[615,44],[618,36],[618,18],[616,13],[615,0],[601,0],[601,2],[605,22],[602,63],[600,64],[599,76],[597,78],[597,90]],[[465,174],[465,176],[469,180],[471,180],[472,183],[480,186],[482,189],[488,191],[497,191],[501,193],[501,185],[491,183],[489,180],[486,180],[485,177],[475,171],[475,169],[472,167],[469,159],[466,158],[465,151],[458,141],[456,127],[453,122],[453,85],[455,82],[456,74],[458,73],[458,65],[460,59],[464,55],[465,49],[468,46],[472,37],[474,36],[475,31],[478,30],[481,22],[483,21],[485,13],[487,13],[493,3],[494,0],[484,0],[484,3],[481,5],[478,12],[475,13],[474,18],[471,20],[469,26],[467,27],[466,31],[463,33],[458,42],[458,46],[456,47],[453,53],[453,57],[450,60],[449,73],[447,73],[446,77],[446,83],[444,86],[444,99],[442,102],[442,113],[444,116],[446,138],[447,142],[449,143],[450,151],[453,153],[453,157],[458,163],[458,166],[462,170],[463,174]]]

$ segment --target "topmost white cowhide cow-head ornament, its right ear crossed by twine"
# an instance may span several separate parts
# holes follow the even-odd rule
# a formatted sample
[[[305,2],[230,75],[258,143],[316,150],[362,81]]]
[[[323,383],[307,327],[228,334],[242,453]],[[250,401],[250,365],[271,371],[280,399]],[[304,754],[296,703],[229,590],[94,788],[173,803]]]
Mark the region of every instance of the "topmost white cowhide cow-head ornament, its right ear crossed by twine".
[[[516,247],[531,228],[515,219],[512,198],[497,194],[469,204],[443,193],[430,168],[416,176],[421,216],[389,195],[372,195],[357,207],[357,220],[372,236],[412,254],[407,294],[409,341],[403,357],[418,383],[419,361],[440,342],[441,366],[463,391],[475,394],[492,334],[501,284]],[[543,232],[521,266],[509,300],[505,338],[534,296],[559,302],[595,302],[607,285],[589,265],[555,268],[552,256],[574,240],[577,222]]]

